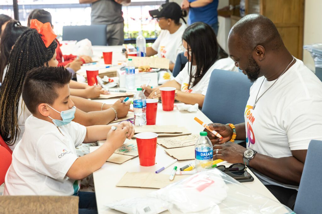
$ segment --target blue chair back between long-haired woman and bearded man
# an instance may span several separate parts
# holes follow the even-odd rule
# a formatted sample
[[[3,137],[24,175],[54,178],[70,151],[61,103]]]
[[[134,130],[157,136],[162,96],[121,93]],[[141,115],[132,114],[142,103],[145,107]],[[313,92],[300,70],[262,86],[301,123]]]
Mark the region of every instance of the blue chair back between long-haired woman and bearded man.
[[[244,123],[251,85],[243,73],[213,70],[202,112],[214,123]]]

